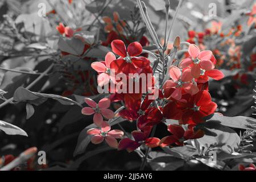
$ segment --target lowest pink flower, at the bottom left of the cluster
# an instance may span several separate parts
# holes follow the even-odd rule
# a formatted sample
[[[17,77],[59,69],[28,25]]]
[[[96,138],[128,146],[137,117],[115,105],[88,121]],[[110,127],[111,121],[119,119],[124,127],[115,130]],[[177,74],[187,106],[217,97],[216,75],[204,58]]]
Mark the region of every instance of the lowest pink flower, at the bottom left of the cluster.
[[[106,140],[106,143],[110,147],[117,148],[118,142],[117,138],[123,137],[123,131],[121,130],[111,130],[108,122],[103,121],[101,125],[101,129],[89,129],[87,131],[88,135],[93,135],[90,139],[93,144],[99,144]]]

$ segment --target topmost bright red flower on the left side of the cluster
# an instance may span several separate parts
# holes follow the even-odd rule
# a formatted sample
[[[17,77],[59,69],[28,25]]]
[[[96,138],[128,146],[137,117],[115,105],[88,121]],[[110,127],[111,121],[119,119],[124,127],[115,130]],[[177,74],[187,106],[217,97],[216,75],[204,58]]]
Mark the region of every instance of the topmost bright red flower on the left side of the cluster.
[[[125,43],[122,40],[114,40],[111,43],[112,50],[117,55],[121,56],[119,59],[114,60],[110,64],[110,68],[115,70],[115,73],[137,73],[139,70],[150,65],[150,60],[146,57],[135,57],[141,55],[142,46],[138,42],[133,42],[125,47]]]

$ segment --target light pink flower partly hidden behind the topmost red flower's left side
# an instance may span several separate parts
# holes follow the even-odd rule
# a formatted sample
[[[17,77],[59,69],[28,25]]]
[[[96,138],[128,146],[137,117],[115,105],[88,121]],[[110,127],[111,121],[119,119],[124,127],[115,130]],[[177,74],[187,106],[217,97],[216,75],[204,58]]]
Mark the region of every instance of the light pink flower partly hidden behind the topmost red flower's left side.
[[[116,60],[114,53],[108,52],[105,56],[105,62],[94,62],[92,63],[92,68],[100,73],[98,75],[97,81],[99,86],[104,86],[109,83],[110,80],[113,80],[110,77],[110,63]]]

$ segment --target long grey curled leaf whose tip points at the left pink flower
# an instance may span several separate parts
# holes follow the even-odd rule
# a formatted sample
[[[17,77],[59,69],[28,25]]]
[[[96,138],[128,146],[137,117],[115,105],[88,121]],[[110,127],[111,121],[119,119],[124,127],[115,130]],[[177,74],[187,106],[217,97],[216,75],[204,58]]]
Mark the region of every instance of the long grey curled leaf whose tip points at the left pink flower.
[[[14,93],[14,101],[16,102],[30,102],[30,104],[42,104],[44,101],[46,101],[48,98],[52,98],[53,100],[59,101],[63,105],[79,105],[76,101],[71,100],[67,97],[58,96],[55,94],[45,94],[45,93],[37,93],[37,92],[31,92],[30,90],[27,90],[23,87],[19,87],[15,90]]]

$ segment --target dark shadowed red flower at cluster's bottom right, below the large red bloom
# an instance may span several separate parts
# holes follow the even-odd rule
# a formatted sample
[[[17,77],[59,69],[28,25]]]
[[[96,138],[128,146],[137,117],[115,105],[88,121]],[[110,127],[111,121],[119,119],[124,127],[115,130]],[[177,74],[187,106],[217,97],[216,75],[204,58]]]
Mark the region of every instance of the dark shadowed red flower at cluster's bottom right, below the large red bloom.
[[[184,130],[180,125],[168,125],[168,131],[172,134],[160,140],[160,147],[170,146],[177,144],[183,146],[183,142],[188,139],[196,139],[204,136],[203,130],[193,131],[193,129]]]

